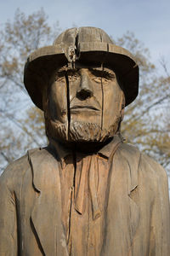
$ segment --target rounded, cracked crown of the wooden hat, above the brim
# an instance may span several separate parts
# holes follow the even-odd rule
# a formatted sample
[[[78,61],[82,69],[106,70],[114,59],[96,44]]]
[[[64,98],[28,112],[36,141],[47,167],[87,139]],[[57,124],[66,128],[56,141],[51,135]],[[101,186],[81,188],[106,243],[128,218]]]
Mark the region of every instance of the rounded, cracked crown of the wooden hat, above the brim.
[[[93,26],[82,26],[79,28],[73,27],[62,32],[59,37],[54,40],[54,45],[74,46],[89,42],[113,44],[111,38],[102,29]]]

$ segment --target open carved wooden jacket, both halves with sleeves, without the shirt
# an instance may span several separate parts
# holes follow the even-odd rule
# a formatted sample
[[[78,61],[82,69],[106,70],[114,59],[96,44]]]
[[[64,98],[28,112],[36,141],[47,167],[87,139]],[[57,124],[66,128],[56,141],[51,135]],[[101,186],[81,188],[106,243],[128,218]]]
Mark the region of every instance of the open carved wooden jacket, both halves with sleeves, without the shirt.
[[[122,143],[111,163],[105,242],[96,256],[169,256],[166,172]],[[58,160],[31,150],[0,177],[0,256],[68,256]],[[81,255],[73,255],[81,256]]]

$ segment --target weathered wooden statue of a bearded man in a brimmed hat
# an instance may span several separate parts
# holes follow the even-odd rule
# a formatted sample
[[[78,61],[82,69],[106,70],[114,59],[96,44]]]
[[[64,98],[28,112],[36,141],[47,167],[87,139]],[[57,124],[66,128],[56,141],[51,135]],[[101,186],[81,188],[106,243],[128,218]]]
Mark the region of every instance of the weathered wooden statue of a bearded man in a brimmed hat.
[[[0,178],[0,256],[169,256],[166,172],[120,131],[138,95],[133,55],[72,28],[29,56],[24,81],[49,145]]]

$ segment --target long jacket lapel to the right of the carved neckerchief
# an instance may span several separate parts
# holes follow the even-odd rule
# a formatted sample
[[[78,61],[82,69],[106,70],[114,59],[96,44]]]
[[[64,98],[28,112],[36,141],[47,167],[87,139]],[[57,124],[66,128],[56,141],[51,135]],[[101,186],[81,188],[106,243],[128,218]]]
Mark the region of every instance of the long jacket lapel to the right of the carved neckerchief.
[[[122,144],[111,166],[111,184],[102,255],[128,255],[139,224],[139,207],[133,201],[138,187],[139,151]]]

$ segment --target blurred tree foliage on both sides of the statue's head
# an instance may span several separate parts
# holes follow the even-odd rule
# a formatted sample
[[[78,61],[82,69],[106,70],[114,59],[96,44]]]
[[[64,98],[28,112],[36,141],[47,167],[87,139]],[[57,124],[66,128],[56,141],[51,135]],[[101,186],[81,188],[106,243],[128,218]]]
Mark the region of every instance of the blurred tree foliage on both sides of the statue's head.
[[[31,103],[23,86],[23,68],[35,49],[52,44],[61,32],[59,22],[48,25],[43,9],[31,15],[16,10],[0,30],[0,172],[9,162],[30,148],[47,144],[42,111]],[[144,48],[132,32],[115,43],[135,55],[140,68],[139,97],[126,108],[122,134],[128,143],[159,161],[170,170],[170,76],[163,60],[164,74],[159,76]]]

